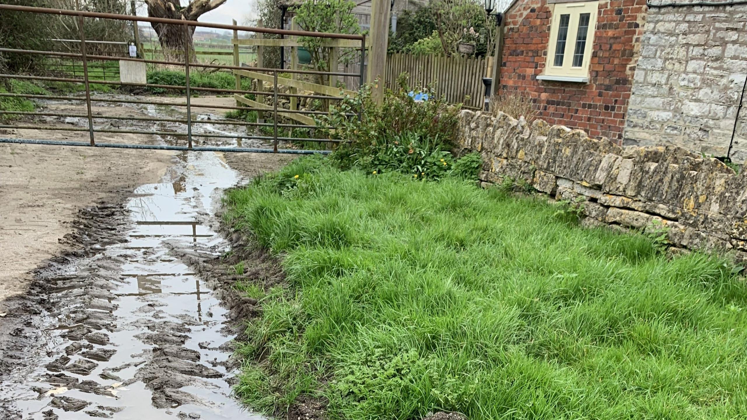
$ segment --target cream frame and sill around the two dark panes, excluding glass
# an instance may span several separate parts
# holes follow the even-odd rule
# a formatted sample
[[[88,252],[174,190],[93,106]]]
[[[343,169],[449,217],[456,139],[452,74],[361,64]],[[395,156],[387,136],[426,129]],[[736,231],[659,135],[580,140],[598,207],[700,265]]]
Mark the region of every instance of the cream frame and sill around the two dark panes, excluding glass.
[[[592,57],[592,45],[594,44],[594,32],[597,26],[597,13],[599,1],[577,1],[573,3],[554,4],[550,25],[550,42],[548,44],[548,55],[545,61],[545,72],[537,76],[539,80],[558,81],[589,81],[589,61]],[[574,67],[574,52],[576,38],[578,36],[578,24],[582,13],[589,13],[589,28],[586,30],[586,44],[583,49],[583,61],[580,67]],[[562,15],[570,15],[568,22],[568,34],[565,37],[565,48],[563,49],[562,66],[555,65],[555,52],[557,48],[558,31]]]

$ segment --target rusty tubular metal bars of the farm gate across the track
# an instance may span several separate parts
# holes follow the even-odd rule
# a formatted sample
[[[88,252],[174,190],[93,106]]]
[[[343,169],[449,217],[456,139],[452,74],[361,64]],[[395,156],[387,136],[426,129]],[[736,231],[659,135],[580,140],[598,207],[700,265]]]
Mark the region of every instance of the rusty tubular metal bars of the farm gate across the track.
[[[220,64],[202,64],[199,62],[192,63],[190,57],[190,43],[191,34],[190,26],[194,27],[207,27],[207,28],[222,28],[232,29],[237,31],[255,31],[272,34],[288,34],[306,37],[326,37],[326,38],[337,38],[337,39],[349,39],[349,40],[360,40],[361,41],[361,66],[359,74],[347,73],[347,72],[323,72],[317,70],[283,70],[284,72],[300,73],[300,74],[316,74],[316,75],[342,75],[350,76],[357,75],[360,79],[360,85],[364,83],[364,67],[365,67],[365,36],[364,35],[350,35],[350,34],[327,34],[327,33],[316,33],[309,31],[289,31],[280,30],[273,28],[253,28],[249,26],[238,26],[238,25],[222,25],[214,23],[184,21],[179,19],[164,19],[164,18],[152,18],[143,16],[130,16],[130,15],[117,15],[114,13],[96,13],[86,12],[78,10],[62,10],[62,9],[50,9],[45,7],[28,7],[28,6],[15,6],[9,4],[0,4],[0,10],[14,10],[20,12],[31,12],[31,13],[50,13],[55,15],[66,15],[66,16],[77,16],[78,17],[78,28],[80,31],[81,52],[80,54],[72,52],[49,52],[49,51],[38,51],[38,50],[25,50],[25,49],[8,49],[0,48],[0,52],[14,52],[14,53],[25,53],[25,54],[37,54],[37,55],[51,55],[57,57],[69,57],[81,58],[83,64],[83,79],[79,78],[61,78],[61,77],[45,77],[45,76],[34,76],[34,75],[9,75],[0,74],[0,78],[19,78],[19,79],[31,79],[31,80],[43,80],[43,81],[65,81],[72,83],[83,83],[85,87],[85,99],[81,99],[75,96],[61,96],[61,95],[37,95],[37,94],[25,94],[25,93],[0,93],[0,96],[11,96],[11,97],[22,97],[22,98],[34,98],[34,99],[63,99],[63,100],[74,100],[86,102],[87,113],[83,114],[66,114],[66,113],[49,113],[49,112],[35,112],[35,111],[0,111],[0,114],[16,114],[16,115],[37,115],[37,116],[57,116],[57,117],[85,117],[88,120],[87,129],[75,128],[75,127],[58,127],[58,126],[17,126],[17,125],[0,125],[0,128],[10,129],[42,129],[42,130],[58,130],[58,131],[73,131],[73,132],[89,132],[90,143],[84,143],[80,141],[58,141],[58,140],[39,140],[39,139],[18,139],[18,138],[0,138],[0,143],[31,143],[31,144],[53,144],[53,145],[65,145],[65,146],[99,146],[99,147],[116,147],[116,148],[129,148],[129,149],[171,149],[171,150],[199,150],[199,151],[223,151],[223,152],[285,152],[285,153],[327,153],[326,150],[297,150],[297,149],[278,149],[279,140],[284,141],[311,141],[317,143],[340,143],[341,140],[337,139],[318,139],[318,138],[293,138],[293,137],[281,137],[279,136],[278,128],[292,129],[332,129],[332,127],[308,125],[308,124],[282,124],[279,123],[279,96],[282,97],[297,97],[297,98],[309,98],[309,99],[326,99],[326,100],[341,100],[343,98],[338,96],[323,96],[323,95],[303,95],[298,93],[279,93],[278,86],[278,72],[279,69],[270,69],[264,67],[248,67],[248,66],[224,66]],[[166,61],[166,60],[146,60],[140,58],[128,58],[128,57],[111,57],[106,55],[89,55],[87,53],[87,40],[84,36],[84,17],[92,17],[99,19],[120,19],[138,22],[151,22],[151,23],[165,23],[171,25],[182,25],[185,30],[186,40],[185,42],[185,61]],[[122,81],[108,81],[106,80],[105,67],[102,66],[104,72],[104,80],[96,80],[90,78],[90,72],[88,68],[88,61],[138,61],[146,64],[166,64],[166,65],[182,65],[185,67],[185,86],[178,85],[164,85],[164,84],[149,84],[149,83],[129,83]],[[252,91],[252,90],[238,90],[238,89],[220,89],[211,87],[192,87],[190,85],[190,67],[203,67],[212,68],[217,70],[252,70],[255,72],[272,72],[273,73],[273,91],[267,92]],[[72,64],[72,69],[75,71],[75,64]],[[330,69],[331,70],[331,69]],[[60,70],[64,72],[64,70]],[[101,73],[102,71],[96,70]],[[133,86],[133,87],[158,87],[162,89],[173,89],[173,90],[184,90],[186,94],[186,103],[175,103],[175,102],[154,102],[154,101],[143,101],[136,99],[105,99],[99,98],[94,99],[90,96],[90,84],[111,84],[120,86]],[[241,93],[241,94],[254,94],[260,96],[273,96],[273,123],[249,123],[249,122],[237,122],[237,121],[211,121],[220,124],[225,123],[226,125],[233,126],[272,126],[273,135],[270,136],[259,136],[259,135],[207,135],[207,134],[193,134],[192,125],[193,123],[203,123],[199,120],[193,122],[192,120],[192,108],[217,108],[217,109],[236,109],[242,111],[268,111],[267,108],[255,108],[255,107],[244,107],[244,106],[228,106],[228,105],[201,105],[191,103],[191,91],[205,91],[205,92],[217,92],[217,93]],[[148,105],[171,105],[171,106],[186,106],[187,118],[186,119],[168,119],[168,118],[149,118],[149,117],[111,117],[103,115],[93,115],[92,102],[117,102],[117,103],[135,103],[135,104],[148,104]],[[238,105],[238,104],[237,104]],[[307,114],[307,115],[325,115],[329,114],[329,111],[303,111],[303,110],[291,110],[282,109],[283,114]],[[347,113],[345,116],[360,118],[360,113],[352,114]],[[173,123],[185,123],[187,126],[187,133],[181,132],[157,132],[157,131],[141,131],[141,130],[128,130],[128,129],[96,129],[93,126],[94,119],[109,119],[109,120],[141,120],[141,121],[158,121],[158,122],[173,122]],[[205,122],[207,123],[207,122]],[[129,133],[129,134],[143,134],[143,135],[167,135],[176,137],[187,137],[187,146],[152,146],[145,144],[122,144],[122,143],[96,143],[94,140],[95,132],[105,133]],[[225,147],[225,146],[193,146],[192,138],[247,138],[257,140],[272,140],[273,149],[254,149],[245,147]]]

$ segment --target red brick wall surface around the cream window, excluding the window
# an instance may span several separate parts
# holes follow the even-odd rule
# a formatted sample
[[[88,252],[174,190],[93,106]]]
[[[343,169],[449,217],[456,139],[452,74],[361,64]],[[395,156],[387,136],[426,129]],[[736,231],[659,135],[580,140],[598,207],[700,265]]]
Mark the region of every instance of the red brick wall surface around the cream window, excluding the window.
[[[645,0],[601,0],[589,61],[589,83],[542,81],[550,39],[546,0],[518,0],[506,13],[500,93],[528,94],[538,117],[622,142],[627,102],[640,51]]]

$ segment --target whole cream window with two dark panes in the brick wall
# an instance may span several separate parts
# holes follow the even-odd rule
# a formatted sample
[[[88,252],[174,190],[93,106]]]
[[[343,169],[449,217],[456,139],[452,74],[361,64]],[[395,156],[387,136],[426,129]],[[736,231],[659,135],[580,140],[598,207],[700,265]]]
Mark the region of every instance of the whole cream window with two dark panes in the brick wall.
[[[545,76],[588,81],[598,4],[598,1],[555,4]]]

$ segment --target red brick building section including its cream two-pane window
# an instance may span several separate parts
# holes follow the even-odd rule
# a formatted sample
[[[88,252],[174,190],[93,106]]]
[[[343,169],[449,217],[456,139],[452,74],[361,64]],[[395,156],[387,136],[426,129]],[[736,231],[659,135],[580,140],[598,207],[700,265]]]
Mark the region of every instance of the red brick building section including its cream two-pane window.
[[[499,94],[538,117],[622,143],[645,0],[515,0],[504,13]]]

